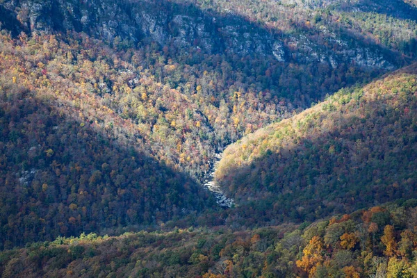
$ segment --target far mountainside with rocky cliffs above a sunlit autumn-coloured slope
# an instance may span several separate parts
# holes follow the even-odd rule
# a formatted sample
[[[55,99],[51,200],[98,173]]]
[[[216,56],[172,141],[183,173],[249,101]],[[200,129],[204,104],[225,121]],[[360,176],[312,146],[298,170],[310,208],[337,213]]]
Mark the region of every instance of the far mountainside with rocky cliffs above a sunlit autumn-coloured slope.
[[[316,4],[5,0],[3,47],[17,61],[3,72],[25,74],[32,89],[47,79],[65,101],[81,87],[85,120],[129,122],[115,129],[201,177],[245,134],[415,58],[416,22],[404,9]]]

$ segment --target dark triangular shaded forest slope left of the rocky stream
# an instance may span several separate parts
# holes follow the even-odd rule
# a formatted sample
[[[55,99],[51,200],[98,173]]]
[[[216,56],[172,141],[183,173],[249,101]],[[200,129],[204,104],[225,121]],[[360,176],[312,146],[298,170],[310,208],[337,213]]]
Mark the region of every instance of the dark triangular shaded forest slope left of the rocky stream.
[[[0,94],[0,248],[143,229],[214,204],[185,174],[66,115],[47,95],[4,83]]]

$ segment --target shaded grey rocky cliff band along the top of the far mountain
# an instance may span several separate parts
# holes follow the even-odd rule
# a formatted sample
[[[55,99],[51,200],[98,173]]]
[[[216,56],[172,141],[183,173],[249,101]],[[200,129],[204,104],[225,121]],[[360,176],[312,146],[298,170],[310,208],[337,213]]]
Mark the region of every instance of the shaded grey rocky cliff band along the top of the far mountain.
[[[386,70],[398,66],[393,54],[347,42],[332,33],[323,35],[325,30],[318,31],[324,41],[315,41],[302,32],[278,34],[232,12],[204,13],[183,2],[5,0],[0,14],[5,15],[3,28],[15,34],[74,30],[109,42],[119,37],[135,44],[157,42],[179,49],[193,47],[207,54],[229,51],[242,56],[270,56],[282,63],[326,63],[331,67],[344,63]],[[325,6],[327,2],[316,4]]]

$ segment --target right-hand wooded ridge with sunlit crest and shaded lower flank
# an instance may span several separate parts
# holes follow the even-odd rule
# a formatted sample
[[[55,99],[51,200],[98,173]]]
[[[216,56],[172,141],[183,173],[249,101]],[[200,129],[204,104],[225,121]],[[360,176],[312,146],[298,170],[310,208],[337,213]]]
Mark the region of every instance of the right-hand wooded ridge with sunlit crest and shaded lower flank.
[[[314,220],[416,197],[416,73],[341,90],[228,147],[216,179],[240,206],[229,220]]]

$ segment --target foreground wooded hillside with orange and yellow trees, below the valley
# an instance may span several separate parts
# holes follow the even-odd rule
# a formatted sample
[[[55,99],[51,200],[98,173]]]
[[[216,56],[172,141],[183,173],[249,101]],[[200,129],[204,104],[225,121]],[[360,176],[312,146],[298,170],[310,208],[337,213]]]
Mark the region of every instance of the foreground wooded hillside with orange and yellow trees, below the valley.
[[[415,277],[416,199],[301,225],[82,234],[0,252],[2,277]]]

